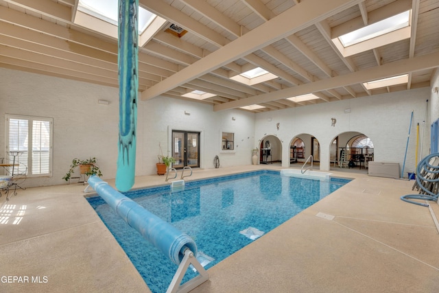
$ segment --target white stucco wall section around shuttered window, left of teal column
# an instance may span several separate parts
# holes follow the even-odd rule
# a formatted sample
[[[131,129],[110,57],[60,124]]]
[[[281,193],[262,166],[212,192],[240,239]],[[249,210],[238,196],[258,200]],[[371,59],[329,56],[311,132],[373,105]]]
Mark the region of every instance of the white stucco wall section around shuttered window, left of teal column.
[[[110,104],[98,104],[98,99],[106,99]],[[104,178],[111,178],[117,161],[117,100],[118,91],[114,88],[0,69],[0,156],[7,157],[4,152],[5,114],[52,117],[53,174],[27,178],[24,185],[65,183],[62,176],[75,157],[95,156]]]

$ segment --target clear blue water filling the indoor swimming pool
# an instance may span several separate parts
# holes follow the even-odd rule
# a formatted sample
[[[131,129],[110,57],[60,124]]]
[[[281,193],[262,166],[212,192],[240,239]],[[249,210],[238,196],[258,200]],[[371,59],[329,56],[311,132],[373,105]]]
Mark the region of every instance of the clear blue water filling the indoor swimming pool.
[[[191,236],[198,246],[198,259],[209,269],[349,181],[286,177],[263,170],[189,181],[184,191],[174,193],[167,185],[124,194]],[[88,198],[88,202],[152,292],[166,292],[176,264],[128,226],[102,198]],[[183,282],[195,276],[188,270]]]

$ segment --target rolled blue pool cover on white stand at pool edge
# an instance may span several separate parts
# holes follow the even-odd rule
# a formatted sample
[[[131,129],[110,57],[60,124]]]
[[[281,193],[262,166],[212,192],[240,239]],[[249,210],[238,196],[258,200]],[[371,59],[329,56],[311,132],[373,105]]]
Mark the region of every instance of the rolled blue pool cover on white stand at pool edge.
[[[178,231],[177,228],[147,211],[134,200],[113,189],[98,176],[88,178],[88,184],[125,222],[148,242],[154,244],[176,265],[182,261],[187,248],[192,251],[193,255],[197,254],[197,245],[189,235]]]

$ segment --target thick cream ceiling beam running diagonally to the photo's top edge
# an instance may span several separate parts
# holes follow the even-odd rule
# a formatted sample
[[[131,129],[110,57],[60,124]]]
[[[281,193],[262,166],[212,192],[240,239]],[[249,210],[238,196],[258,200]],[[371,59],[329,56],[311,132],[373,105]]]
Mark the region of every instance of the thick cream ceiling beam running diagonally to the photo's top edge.
[[[146,2],[141,0],[142,3]],[[160,1],[147,1],[148,3],[158,3]],[[198,78],[213,69],[222,67],[233,60],[247,56],[248,54],[266,47],[270,43],[285,38],[290,34],[302,30],[313,23],[322,21],[328,16],[340,12],[352,5],[357,5],[360,0],[333,0],[324,1],[307,0],[298,5],[294,5],[282,14],[274,17],[271,21],[263,23],[254,30],[244,34],[237,40],[228,43],[212,54],[198,60],[193,65],[182,69],[171,77],[163,80],[159,84],[152,86],[148,91],[142,93],[141,99],[151,99],[161,93],[169,91],[174,86],[184,84],[189,80]],[[169,5],[167,5],[169,6]],[[306,13],[305,13],[306,12]],[[161,15],[165,19],[164,15]]]

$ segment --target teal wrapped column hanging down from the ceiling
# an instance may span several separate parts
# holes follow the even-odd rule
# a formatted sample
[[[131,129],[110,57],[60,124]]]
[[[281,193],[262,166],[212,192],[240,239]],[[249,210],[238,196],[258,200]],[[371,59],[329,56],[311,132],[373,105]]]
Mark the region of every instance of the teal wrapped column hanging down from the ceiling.
[[[119,0],[119,150],[116,187],[128,191],[136,171],[139,0]]]

